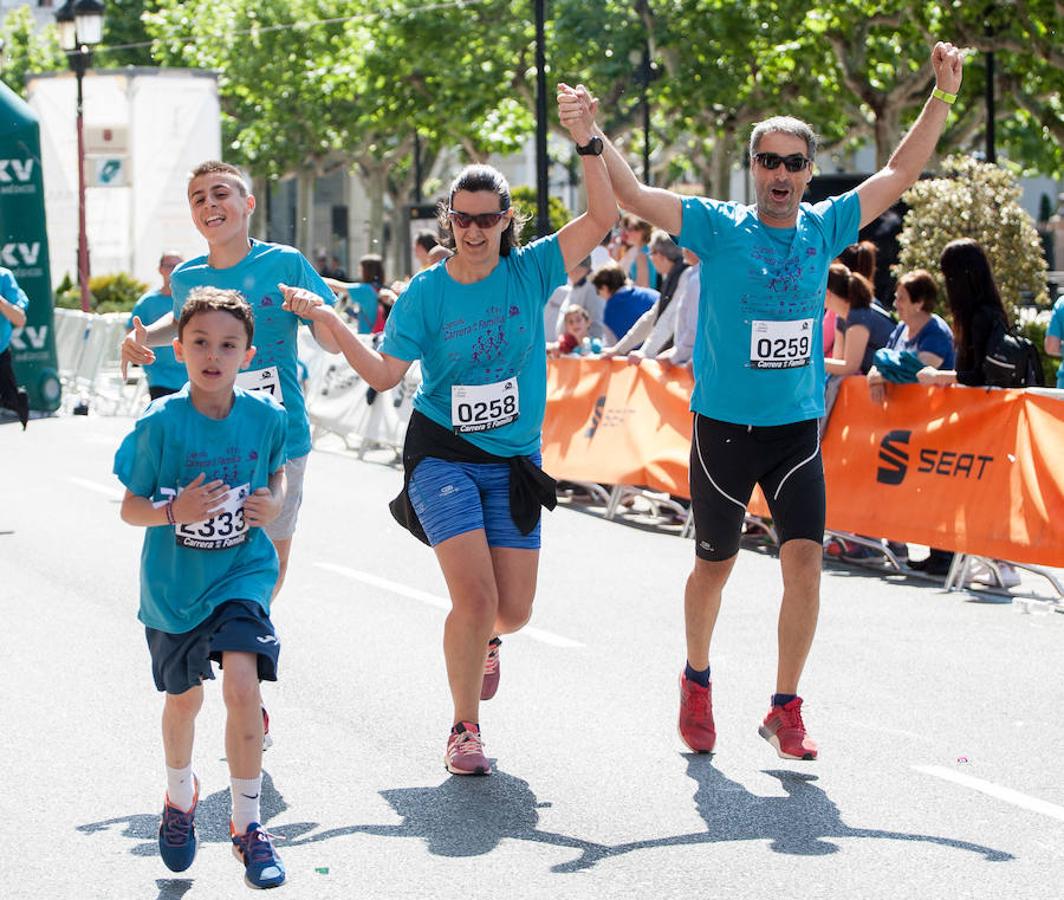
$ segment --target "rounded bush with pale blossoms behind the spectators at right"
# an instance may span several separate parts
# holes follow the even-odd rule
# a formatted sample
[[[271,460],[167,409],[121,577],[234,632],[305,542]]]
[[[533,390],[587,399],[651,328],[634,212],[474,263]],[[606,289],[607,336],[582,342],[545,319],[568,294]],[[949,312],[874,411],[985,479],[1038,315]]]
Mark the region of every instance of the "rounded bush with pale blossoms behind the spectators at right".
[[[1007,169],[967,156],[943,161],[942,178],[919,181],[905,191],[909,204],[898,243],[895,274],[927,269],[941,282],[943,248],[959,237],[979,241],[994,269],[1001,299],[1045,305],[1046,261],[1034,222],[1019,205],[1020,188]]]

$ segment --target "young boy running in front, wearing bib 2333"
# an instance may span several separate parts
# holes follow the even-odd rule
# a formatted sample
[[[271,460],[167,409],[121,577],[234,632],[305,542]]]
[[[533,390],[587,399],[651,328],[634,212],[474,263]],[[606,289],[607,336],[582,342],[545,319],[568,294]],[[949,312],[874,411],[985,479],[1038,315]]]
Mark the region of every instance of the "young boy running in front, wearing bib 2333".
[[[284,865],[260,824],[259,682],[277,680],[280,653],[269,619],[278,557],[263,529],[284,506],[287,421],[276,400],[235,386],[255,355],[253,333],[238,291],[189,293],[173,341],[188,383],[137,419],[115,474],[127,488],[122,520],[147,529],[138,618],[155,687],[166,694],[160,854],[176,872],[196,856],[193,737],[214,661],[225,670],[233,852],[249,885],[277,887]]]

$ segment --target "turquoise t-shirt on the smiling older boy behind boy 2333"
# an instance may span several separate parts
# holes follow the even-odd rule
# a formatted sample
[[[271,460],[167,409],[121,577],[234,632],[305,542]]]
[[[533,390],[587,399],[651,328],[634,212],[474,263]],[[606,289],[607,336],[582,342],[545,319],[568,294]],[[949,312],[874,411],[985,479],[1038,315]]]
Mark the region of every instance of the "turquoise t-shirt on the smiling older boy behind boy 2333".
[[[336,302],[329,285],[303,254],[283,244],[264,244],[252,239],[248,255],[235,266],[215,269],[207,265],[206,256],[197,256],[182,263],[170,276],[174,316],[181,315],[188,291],[201,285],[239,290],[251,304],[255,312],[254,345],[257,352],[248,371],[277,368],[281,387],[281,397],[277,399],[284,403],[288,413],[287,452],[292,460],[311,452],[311,423],[296,370],[296,331],[300,319],[281,309],[284,297],[279,283],[305,287],[329,305]],[[242,384],[250,386],[249,382]]]

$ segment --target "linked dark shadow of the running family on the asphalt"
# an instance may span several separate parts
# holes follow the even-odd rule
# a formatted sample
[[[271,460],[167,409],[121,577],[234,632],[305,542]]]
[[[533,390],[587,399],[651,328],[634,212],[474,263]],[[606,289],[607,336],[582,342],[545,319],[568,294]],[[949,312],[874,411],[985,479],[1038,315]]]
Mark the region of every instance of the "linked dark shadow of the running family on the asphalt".
[[[402,787],[382,790],[383,797],[402,819],[398,824],[351,824],[315,831],[316,822],[270,826],[284,838],[279,849],[320,844],[336,837],[367,834],[403,837],[421,841],[435,856],[469,857],[491,853],[503,840],[526,840],[564,847],[578,855],[551,868],[558,873],[578,872],[603,860],[663,847],[724,844],[742,840],[767,841],[776,853],[826,856],[842,849],[838,839],[901,840],[930,844],[982,855],[987,862],[1004,862],[1013,854],[967,840],[932,834],[852,828],[838,807],[819,787],[817,776],[784,769],[765,774],[779,781],[784,797],[760,797],[725,777],[710,755],[684,754],[687,776],[695,782],[695,809],[704,830],[651,837],[622,844],[600,844],[538,828],[541,802],[527,781],[496,769],[489,778],[451,777],[435,787]],[[204,843],[229,841],[229,791],[220,790],[200,801],[197,832]],[[263,777],[263,823],[287,810],[269,776]],[[123,836],[138,841],[134,855],[157,855],[157,814],[105,819],[78,827],[94,834],[122,827]],[[160,900],[180,900],[188,890],[186,879],[159,880]]]

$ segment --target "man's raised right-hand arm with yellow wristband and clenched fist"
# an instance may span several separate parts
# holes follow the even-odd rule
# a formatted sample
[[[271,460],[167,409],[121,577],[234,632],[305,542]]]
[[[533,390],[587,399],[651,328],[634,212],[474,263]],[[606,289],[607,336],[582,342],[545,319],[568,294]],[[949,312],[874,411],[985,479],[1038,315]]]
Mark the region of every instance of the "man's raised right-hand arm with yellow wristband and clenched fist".
[[[919,118],[901,138],[886,165],[858,187],[862,228],[893,206],[916,183],[942,135],[949,107],[961,89],[962,53],[952,44],[938,41],[931,51],[931,66],[935,89]]]

